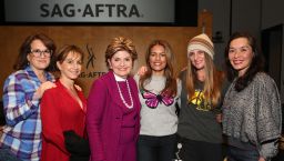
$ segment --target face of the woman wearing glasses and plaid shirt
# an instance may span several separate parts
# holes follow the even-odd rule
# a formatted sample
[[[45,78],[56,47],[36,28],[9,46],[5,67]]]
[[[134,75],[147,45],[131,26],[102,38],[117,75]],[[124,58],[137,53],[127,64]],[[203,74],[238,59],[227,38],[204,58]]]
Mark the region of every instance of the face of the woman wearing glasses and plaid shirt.
[[[48,48],[43,44],[41,40],[33,40],[31,42],[31,51],[47,51]],[[34,71],[43,71],[50,64],[50,57],[47,54],[40,54],[36,57],[32,52],[27,56],[27,59]]]

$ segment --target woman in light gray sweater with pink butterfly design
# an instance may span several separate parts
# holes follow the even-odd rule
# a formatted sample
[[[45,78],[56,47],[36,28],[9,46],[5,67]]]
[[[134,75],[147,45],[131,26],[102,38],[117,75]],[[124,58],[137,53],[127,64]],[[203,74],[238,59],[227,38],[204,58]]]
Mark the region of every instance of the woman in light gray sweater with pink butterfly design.
[[[152,41],[145,62],[145,72],[135,77],[142,105],[138,160],[172,161],[178,129],[175,103],[181,84],[174,77],[174,54],[170,44],[164,40]]]

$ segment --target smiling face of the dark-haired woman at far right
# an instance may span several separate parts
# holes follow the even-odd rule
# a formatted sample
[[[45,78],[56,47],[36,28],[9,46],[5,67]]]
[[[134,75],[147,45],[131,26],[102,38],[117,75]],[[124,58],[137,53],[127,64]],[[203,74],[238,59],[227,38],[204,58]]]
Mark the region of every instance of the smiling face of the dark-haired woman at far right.
[[[246,38],[237,38],[231,41],[229,49],[229,60],[232,67],[243,76],[250,68],[253,59],[252,47]]]

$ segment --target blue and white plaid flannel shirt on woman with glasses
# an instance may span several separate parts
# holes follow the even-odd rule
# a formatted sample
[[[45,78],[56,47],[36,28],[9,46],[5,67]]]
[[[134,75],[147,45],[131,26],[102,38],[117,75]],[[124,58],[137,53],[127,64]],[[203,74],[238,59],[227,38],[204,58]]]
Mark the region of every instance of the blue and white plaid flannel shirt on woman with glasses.
[[[47,80],[54,81],[45,72]],[[31,67],[19,70],[4,81],[3,108],[7,124],[0,139],[6,147],[23,161],[39,161],[41,152],[40,100],[34,98],[41,82]]]

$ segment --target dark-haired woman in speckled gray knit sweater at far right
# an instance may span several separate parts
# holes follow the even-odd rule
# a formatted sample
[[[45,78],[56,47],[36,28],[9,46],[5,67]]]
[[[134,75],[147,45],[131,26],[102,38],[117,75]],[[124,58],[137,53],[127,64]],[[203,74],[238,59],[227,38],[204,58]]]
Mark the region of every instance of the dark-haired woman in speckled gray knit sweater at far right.
[[[229,88],[223,102],[223,133],[229,161],[268,161],[281,137],[281,100],[273,79],[262,72],[255,39],[234,33],[226,47]]]

